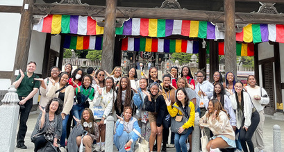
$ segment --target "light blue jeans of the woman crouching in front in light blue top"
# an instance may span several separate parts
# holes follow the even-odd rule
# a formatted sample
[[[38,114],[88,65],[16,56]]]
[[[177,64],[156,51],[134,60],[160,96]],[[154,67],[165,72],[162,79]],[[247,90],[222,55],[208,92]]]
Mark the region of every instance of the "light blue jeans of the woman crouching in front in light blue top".
[[[131,140],[132,135],[134,134],[133,131],[131,131],[131,133],[126,133],[126,131],[124,131],[124,133],[122,133],[121,136],[118,136],[117,134],[115,134],[115,137],[113,139],[113,142],[115,142],[115,146],[117,147],[119,152],[124,152],[124,145]],[[131,144],[131,149],[129,152],[133,152],[134,151],[134,146],[135,146],[136,140],[132,142]]]

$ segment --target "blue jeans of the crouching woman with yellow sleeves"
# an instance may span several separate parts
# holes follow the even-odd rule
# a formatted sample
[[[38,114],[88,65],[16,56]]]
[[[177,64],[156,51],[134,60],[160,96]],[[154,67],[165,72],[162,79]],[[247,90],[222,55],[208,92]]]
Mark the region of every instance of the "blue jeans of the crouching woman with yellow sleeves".
[[[181,135],[178,133],[174,134],[174,146],[176,147],[177,152],[187,152],[185,141],[187,140],[188,135],[192,133],[193,127],[188,128],[187,133]]]

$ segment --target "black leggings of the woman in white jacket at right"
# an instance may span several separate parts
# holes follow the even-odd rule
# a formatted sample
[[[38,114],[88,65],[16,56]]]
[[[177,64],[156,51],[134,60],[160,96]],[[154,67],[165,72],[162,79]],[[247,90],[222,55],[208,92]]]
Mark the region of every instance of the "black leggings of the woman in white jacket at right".
[[[253,142],[251,142],[251,137],[253,136],[254,131],[258,127],[258,123],[260,121],[260,116],[257,111],[251,114],[251,126],[247,129],[240,128],[240,142],[242,144],[242,150],[247,152],[247,145],[249,146],[249,151],[253,152]],[[247,142],[247,144],[246,144]]]

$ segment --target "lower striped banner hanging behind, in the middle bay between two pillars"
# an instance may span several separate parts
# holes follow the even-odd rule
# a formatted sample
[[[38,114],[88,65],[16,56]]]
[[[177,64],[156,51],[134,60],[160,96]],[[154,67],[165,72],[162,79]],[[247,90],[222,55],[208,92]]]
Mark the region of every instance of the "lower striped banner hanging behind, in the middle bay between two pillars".
[[[199,41],[127,37],[122,39],[122,50],[160,53],[199,53]]]

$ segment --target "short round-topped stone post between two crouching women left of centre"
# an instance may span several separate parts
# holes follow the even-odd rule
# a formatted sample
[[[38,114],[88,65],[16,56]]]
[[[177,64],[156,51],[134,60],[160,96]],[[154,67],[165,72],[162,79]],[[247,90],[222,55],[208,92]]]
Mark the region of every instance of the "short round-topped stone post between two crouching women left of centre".
[[[114,118],[112,116],[108,116],[106,118],[106,146],[105,151],[112,152],[113,151],[113,127]]]

